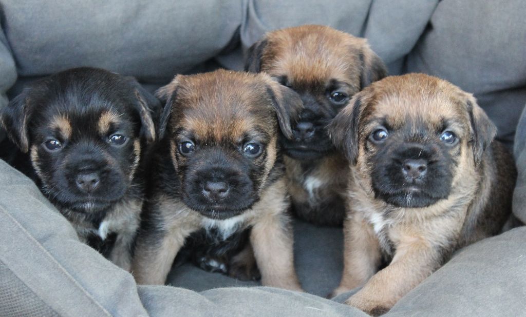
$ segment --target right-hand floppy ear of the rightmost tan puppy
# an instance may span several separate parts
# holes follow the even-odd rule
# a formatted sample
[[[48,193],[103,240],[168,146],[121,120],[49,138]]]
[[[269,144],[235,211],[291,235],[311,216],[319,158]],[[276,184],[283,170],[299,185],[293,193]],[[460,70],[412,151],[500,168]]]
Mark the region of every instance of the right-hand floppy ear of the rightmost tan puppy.
[[[472,129],[473,160],[479,165],[487,147],[497,134],[497,126],[491,122],[488,115],[477,104],[477,100],[469,94],[467,100],[469,119]]]

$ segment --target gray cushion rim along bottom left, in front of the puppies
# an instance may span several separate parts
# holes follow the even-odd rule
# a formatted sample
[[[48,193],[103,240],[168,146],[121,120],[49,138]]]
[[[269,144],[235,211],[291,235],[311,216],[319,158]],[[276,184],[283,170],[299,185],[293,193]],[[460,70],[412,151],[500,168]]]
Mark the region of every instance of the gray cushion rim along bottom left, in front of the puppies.
[[[278,289],[137,287],[128,272],[82,244],[28,178],[1,160],[0,175],[0,286],[8,283],[0,291],[2,316],[365,316]]]

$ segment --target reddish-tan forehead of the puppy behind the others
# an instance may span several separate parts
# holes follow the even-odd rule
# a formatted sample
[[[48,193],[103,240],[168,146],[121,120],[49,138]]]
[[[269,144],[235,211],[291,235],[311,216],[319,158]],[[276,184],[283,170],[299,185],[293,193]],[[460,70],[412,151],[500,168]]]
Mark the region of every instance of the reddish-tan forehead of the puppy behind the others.
[[[323,26],[302,26],[274,31],[262,70],[292,80],[348,80],[360,73],[360,51],[365,40]]]

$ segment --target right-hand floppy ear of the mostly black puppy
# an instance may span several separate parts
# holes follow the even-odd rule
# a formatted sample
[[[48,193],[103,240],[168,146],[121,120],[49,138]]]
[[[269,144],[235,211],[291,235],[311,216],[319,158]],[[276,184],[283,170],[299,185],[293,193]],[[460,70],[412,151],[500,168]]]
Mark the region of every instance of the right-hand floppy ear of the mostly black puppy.
[[[156,138],[155,123],[161,112],[161,103],[151,93],[144,89],[135,80],[129,78],[131,85],[134,87],[134,107],[140,116],[140,136],[148,143],[154,142]]]

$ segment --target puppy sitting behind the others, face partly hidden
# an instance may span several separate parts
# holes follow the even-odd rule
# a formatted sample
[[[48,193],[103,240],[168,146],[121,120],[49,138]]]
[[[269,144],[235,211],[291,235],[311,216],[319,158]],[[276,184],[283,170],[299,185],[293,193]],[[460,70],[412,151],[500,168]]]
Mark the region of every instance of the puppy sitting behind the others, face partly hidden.
[[[280,138],[295,214],[319,225],[341,225],[348,164],[326,126],[355,93],[386,76],[383,62],[363,38],[304,25],[267,33],[249,49],[246,69],[268,73],[304,104],[292,137]]]

